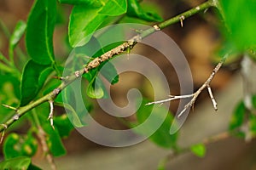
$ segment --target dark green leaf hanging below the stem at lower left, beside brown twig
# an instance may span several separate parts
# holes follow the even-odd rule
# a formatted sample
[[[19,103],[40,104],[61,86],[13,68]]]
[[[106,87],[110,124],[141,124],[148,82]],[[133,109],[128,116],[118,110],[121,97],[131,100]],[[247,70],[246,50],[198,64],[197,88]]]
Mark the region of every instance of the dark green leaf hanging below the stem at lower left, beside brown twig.
[[[66,155],[66,149],[62,144],[60,134],[57,129],[53,129],[48,123],[44,123],[42,126],[46,135],[46,143],[49,147],[49,151],[53,156]]]

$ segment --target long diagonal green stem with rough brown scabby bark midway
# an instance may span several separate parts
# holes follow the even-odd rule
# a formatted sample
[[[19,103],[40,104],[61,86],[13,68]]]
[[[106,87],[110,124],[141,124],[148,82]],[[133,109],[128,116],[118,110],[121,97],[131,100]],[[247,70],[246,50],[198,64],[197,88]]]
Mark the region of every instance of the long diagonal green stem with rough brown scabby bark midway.
[[[197,14],[207,8],[214,7],[214,6],[215,6],[214,0],[208,0],[206,3],[202,3],[201,5],[199,5],[195,8],[191,8],[182,14],[178,14],[177,16],[160,23],[158,26],[155,25],[152,28],[149,28],[149,29],[143,31],[141,34],[139,34],[135,37],[132,37],[127,42],[124,42],[123,44],[119,45],[118,47],[113,48],[112,50],[108,51],[107,53],[102,54],[101,56],[91,60],[90,63],[88,65],[86,65],[83,69],[81,69],[79,71],[75,71],[72,75],[70,75],[68,77],[63,77],[63,81],[62,81],[61,85],[59,87],[55,88],[49,94],[46,94],[42,98],[40,98],[36,101],[33,101],[29,105],[25,105],[25,106],[22,106],[19,109],[17,109],[17,111],[15,112],[15,115],[12,116],[7,122],[3,123],[3,125],[6,127],[9,127],[12,123],[17,121],[20,118],[20,116],[23,116],[27,111],[32,110],[32,108],[35,108],[36,106],[41,105],[44,102],[47,102],[50,100],[53,101],[56,98],[56,96],[61,93],[61,90],[66,88],[70,83],[74,82],[79,77],[81,77],[84,73],[87,73],[88,71],[98,67],[99,65],[102,64],[102,62],[113,58],[113,56],[121,54],[121,53],[125,52],[126,50],[128,50],[129,48],[133,48],[137,44],[137,42],[141,41],[141,39],[143,37],[147,37],[148,35],[154,33],[155,31],[159,31],[160,29],[166,28],[167,26],[171,26],[172,24],[179,22],[181,19],[181,16],[183,16],[182,18],[188,18],[189,16],[191,16],[193,14]],[[0,132],[3,132],[4,129],[5,128],[3,126],[0,126]]]

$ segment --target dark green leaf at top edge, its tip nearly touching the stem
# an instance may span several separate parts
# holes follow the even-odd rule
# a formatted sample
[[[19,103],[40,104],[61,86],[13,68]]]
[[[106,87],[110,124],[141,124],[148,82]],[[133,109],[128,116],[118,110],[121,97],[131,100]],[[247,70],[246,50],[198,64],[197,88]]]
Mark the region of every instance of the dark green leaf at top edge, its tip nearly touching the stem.
[[[163,19],[159,14],[152,13],[151,11],[145,11],[137,0],[128,0],[127,15],[132,17],[137,17],[142,20],[147,21],[157,21],[160,22]]]

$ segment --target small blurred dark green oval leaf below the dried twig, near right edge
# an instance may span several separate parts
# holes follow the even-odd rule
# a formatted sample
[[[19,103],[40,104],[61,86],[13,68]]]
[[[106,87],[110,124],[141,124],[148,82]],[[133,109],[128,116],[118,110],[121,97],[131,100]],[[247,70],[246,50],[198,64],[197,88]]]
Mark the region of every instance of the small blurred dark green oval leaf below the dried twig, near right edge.
[[[229,127],[230,131],[236,129],[236,127],[241,127],[245,113],[246,107],[243,102],[240,102],[238,105],[236,105],[236,109],[231,117]]]

